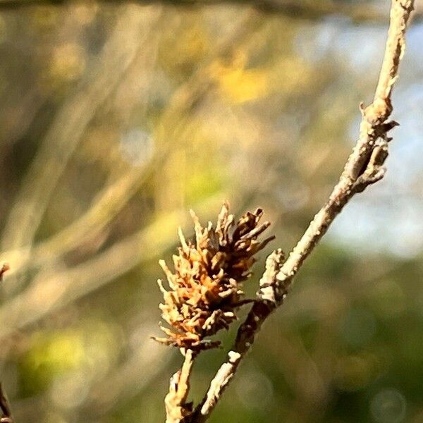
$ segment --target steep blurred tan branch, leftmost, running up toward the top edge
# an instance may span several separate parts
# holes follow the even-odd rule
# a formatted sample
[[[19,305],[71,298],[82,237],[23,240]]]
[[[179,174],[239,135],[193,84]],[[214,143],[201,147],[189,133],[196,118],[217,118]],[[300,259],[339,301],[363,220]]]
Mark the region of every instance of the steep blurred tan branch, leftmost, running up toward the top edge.
[[[4,249],[32,244],[56,183],[87,125],[147,39],[157,11],[134,13],[135,7],[126,6],[118,15],[114,33],[98,58],[99,66],[87,73],[75,94],[63,104],[39,147],[8,216],[2,238]]]

